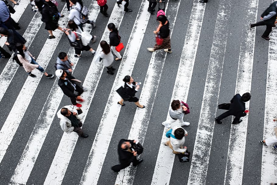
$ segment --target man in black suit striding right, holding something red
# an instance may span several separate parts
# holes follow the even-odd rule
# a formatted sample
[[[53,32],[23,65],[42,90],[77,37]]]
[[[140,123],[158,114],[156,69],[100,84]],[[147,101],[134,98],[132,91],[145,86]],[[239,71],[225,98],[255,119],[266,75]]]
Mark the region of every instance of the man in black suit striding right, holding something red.
[[[240,94],[236,94],[231,100],[229,110],[215,118],[216,123],[221,124],[222,123],[220,121],[221,119],[224,119],[231,115],[236,116],[232,124],[238,124],[242,122],[242,119],[240,119],[240,117],[246,116],[246,114],[248,113],[248,112],[247,113],[244,112],[245,102],[249,101],[250,98],[251,98],[251,95],[248,92],[244,93],[242,96],[240,96]]]

